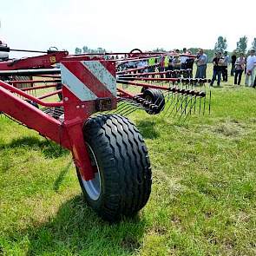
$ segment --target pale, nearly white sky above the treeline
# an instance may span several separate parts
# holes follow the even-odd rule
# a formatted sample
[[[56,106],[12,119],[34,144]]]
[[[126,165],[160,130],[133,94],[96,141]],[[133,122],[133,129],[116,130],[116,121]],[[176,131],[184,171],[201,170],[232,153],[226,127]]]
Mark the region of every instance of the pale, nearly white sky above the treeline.
[[[0,39],[13,49],[213,49],[221,35],[233,50],[240,36],[248,36],[249,47],[256,37],[255,0],[1,0],[0,6]]]

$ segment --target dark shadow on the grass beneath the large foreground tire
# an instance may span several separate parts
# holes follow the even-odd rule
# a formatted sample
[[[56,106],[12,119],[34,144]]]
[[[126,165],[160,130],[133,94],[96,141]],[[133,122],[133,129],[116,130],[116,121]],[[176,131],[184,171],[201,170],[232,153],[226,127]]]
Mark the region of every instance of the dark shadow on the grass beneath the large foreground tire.
[[[30,226],[18,236],[30,240],[27,255],[124,255],[140,249],[145,222],[136,216],[110,225],[77,195],[48,222]]]

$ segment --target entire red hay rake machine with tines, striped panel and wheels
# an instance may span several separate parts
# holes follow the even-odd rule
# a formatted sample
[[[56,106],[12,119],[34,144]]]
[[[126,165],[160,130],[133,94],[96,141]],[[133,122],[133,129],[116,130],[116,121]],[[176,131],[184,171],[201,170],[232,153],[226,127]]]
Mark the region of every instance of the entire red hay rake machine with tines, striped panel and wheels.
[[[10,50],[17,49],[0,47]],[[71,151],[82,192],[104,220],[135,215],[148,201],[151,167],[146,144],[126,115],[136,109],[148,116],[204,113],[207,79],[191,78],[191,69],[161,69],[161,57],[173,53],[42,53],[0,62],[2,115]],[[127,65],[150,58],[153,65]]]

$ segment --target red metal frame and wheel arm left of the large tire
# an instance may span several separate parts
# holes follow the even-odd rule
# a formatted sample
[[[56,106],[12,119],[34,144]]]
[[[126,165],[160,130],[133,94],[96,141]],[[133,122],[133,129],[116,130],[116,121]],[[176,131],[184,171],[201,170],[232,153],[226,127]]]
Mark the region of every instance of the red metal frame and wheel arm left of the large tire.
[[[87,56],[80,56],[79,58],[72,56],[65,58],[65,56],[68,56],[67,52],[57,52],[45,56],[27,58],[19,62],[1,62],[0,69],[50,68],[53,63],[60,62],[62,67],[69,69],[70,74],[80,79],[80,81],[82,80],[84,83],[87,83],[87,85],[89,84],[89,89],[96,95],[95,100],[82,101],[69,89],[70,85],[64,84],[63,81],[62,89],[36,98],[36,96],[29,95],[26,91],[54,87],[56,86],[56,81],[3,82],[0,80],[0,111],[12,116],[17,121],[21,121],[27,127],[35,129],[40,135],[56,141],[63,148],[68,148],[73,154],[75,165],[79,167],[82,177],[85,181],[89,181],[94,177],[94,171],[90,164],[87,148],[84,143],[81,143],[83,141],[82,126],[84,121],[96,111],[116,108],[116,96],[109,91],[106,84],[102,84],[95,75],[89,72],[89,69],[82,65],[82,61],[91,62]],[[113,79],[115,78],[115,62],[104,60],[97,60],[96,62],[103,67],[102,70],[105,74],[108,74],[110,77],[112,76]],[[54,69],[52,70],[54,71]],[[16,83],[23,82],[54,82],[54,84],[27,89],[17,89],[15,87]],[[42,101],[43,98],[59,92],[62,92],[62,102]],[[42,109],[36,108],[36,106],[24,101],[19,96],[43,107],[62,107],[64,109],[64,121],[58,121],[52,116],[45,114]]]

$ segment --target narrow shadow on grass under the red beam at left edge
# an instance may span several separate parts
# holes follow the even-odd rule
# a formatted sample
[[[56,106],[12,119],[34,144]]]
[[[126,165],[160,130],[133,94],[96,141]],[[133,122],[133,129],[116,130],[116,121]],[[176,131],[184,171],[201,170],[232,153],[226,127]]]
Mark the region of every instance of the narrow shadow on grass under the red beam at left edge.
[[[7,148],[40,150],[46,158],[56,158],[69,154],[69,150],[61,148],[54,141],[40,140],[35,136],[23,136],[22,138],[10,141],[10,143],[0,143],[0,149]]]

